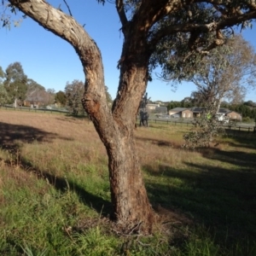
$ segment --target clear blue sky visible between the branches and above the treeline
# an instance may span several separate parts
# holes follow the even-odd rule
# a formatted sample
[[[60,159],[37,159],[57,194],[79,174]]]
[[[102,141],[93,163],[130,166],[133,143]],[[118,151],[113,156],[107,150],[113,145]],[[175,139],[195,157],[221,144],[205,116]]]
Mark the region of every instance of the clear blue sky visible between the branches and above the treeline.
[[[61,3],[61,9],[67,10],[62,0],[48,2],[55,7]],[[114,98],[119,83],[117,61],[119,61],[123,42],[115,7],[110,3],[102,6],[96,0],[69,0],[67,3],[73,17],[81,25],[85,24],[85,30],[102,51],[105,84]],[[12,18],[18,19],[15,16]],[[243,35],[256,50],[256,24],[253,25],[253,30],[249,29],[243,32]],[[72,82],[73,79],[84,81],[83,69],[73,47],[38,26],[38,23],[30,18],[26,18],[19,27],[12,27],[11,30],[1,27],[0,38],[0,66],[3,70],[10,63],[20,61],[30,79],[42,84],[46,89],[55,89],[55,91],[64,90],[67,81]],[[183,83],[173,91],[171,84],[155,78],[148,83],[147,89],[151,100],[165,102],[181,101],[185,96],[190,96],[192,90],[195,90],[194,84]],[[245,100],[256,102],[256,90],[248,92]]]

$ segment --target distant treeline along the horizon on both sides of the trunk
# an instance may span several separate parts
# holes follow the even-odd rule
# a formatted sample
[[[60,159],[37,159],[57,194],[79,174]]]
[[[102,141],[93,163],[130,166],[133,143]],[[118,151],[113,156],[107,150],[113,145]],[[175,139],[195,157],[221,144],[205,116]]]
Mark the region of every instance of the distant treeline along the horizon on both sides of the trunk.
[[[112,106],[112,97],[108,92],[108,86],[105,86],[106,96],[109,107]],[[14,104],[15,107],[37,106],[38,108],[65,108],[69,113],[84,113],[81,99],[84,94],[84,83],[78,79],[67,82],[65,89],[55,92],[54,89],[45,89],[43,85],[38,84],[33,79],[26,76],[20,62],[9,65],[5,71],[0,66],[0,106],[4,104]],[[151,101],[149,101],[151,102]],[[151,102],[154,103],[154,102]],[[162,102],[168,110],[172,108],[193,108],[197,105],[193,97],[185,97],[181,102],[171,101]],[[243,120],[256,119],[256,102],[247,101],[232,104],[222,102],[221,108],[241,113]]]

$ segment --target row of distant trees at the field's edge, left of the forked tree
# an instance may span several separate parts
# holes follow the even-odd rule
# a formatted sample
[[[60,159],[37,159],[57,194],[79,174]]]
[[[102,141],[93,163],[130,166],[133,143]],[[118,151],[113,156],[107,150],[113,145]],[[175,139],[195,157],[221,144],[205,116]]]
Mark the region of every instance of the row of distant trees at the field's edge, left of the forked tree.
[[[109,106],[112,98],[105,86]],[[69,113],[83,114],[81,99],[84,95],[84,83],[80,80],[67,82],[64,91],[55,92],[45,89],[33,79],[29,79],[20,62],[14,62],[3,71],[0,66],[0,106],[5,104],[15,108],[57,108]]]

